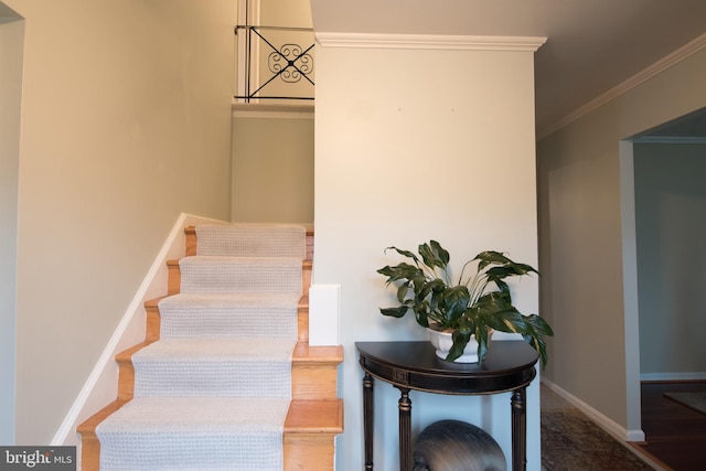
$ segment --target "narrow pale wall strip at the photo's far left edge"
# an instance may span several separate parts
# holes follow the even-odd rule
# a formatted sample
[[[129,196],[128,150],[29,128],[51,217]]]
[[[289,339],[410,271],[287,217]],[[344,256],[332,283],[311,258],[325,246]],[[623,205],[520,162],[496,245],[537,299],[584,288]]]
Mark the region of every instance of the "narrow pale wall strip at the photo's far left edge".
[[[0,443],[14,442],[18,169],[24,22],[0,2]]]

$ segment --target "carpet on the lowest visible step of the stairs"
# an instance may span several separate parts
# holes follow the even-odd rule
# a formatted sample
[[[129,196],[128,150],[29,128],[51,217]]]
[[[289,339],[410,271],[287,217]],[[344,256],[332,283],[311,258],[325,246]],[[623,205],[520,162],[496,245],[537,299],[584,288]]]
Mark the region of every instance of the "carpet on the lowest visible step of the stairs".
[[[288,399],[142,397],[127,403],[96,429],[100,469],[281,469]],[[268,451],[268,452],[264,452]]]

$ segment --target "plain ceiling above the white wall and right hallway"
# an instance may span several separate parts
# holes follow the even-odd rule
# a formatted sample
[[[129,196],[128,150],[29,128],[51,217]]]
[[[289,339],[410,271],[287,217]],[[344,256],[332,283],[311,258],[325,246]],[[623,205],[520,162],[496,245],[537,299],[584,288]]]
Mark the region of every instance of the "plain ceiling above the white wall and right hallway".
[[[706,33],[706,0],[311,0],[311,7],[318,32],[547,38],[535,54],[538,135]]]

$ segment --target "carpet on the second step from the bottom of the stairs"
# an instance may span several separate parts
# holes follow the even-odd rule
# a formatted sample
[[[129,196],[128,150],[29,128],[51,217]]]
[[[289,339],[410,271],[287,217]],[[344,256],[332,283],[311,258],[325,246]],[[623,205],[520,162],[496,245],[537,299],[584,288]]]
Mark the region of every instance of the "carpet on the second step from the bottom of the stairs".
[[[132,355],[135,396],[290,397],[295,343],[160,340]]]

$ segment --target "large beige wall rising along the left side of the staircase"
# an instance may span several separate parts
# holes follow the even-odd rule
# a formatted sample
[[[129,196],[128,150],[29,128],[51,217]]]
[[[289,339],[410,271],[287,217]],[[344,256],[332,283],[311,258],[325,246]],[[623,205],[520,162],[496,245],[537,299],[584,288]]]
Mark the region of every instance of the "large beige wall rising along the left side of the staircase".
[[[179,214],[229,215],[235,4],[6,0],[26,19],[18,443],[49,443]]]

